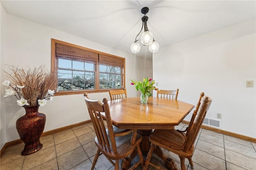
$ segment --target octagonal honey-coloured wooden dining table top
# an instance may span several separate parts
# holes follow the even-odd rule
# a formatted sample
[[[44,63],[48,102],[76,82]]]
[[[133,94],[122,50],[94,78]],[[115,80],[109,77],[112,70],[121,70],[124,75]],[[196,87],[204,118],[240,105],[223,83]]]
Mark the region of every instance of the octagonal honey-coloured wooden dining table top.
[[[157,97],[149,97],[147,104],[142,104],[140,97],[108,104],[113,125],[121,129],[172,129],[194,108],[183,101]]]

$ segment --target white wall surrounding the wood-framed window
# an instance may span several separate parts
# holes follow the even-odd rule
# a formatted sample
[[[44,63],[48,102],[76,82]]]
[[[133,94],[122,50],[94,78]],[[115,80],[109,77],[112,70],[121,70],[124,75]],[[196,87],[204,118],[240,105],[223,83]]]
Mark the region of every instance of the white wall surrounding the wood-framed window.
[[[24,68],[27,66],[34,68],[45,64],[48,70],[50,70],[51,38],[54,38],[56,40],[73,43],[126,58],[126,89],[128,97],[136,96],[136,90],[132,85],[130,85],[130,79],[134,79],[134,75],[137,75],[137,65],[140,65],[140,69],[142,70],[144,69],[144,62],[151,65],[151,67],[145,67],[145,69],[149,70],[145,72],[150,72],[150,77],[152,76],[152,61],[140,59],[135,55],[130,55],[95,42],[90,42],[77,36],[73,36],[14,15],[6,13],[5,15],[5,27],[7,30],[6,37],[8,38],[6,39],[6,42],[2,42],[1,37],[1,47],[2,43],[6,44],[6,60],[2,61],[1,51],[1,67],[3,67],[3,64],[7,64]],[[8,67],[4,66],[1,69],[7,70]],[[4,81],[4,79],[1,77],[1,82],[2,81]],[[3,87],[1,87],[1,89],[3,89]],[[1,90],[0,95],[2,97],[4,95],[4,91]],[[108,92],[90,93],[89,96],[90,99],[95,100],[102,100],[104,97],[110,99]],[[2,103],[5,104],[2,105]],[[84,102],[83,94],[55,96],[53,101],[48,102],[44,107],[40,107],[39,112],[46,114],[46,126],[44,131],[80,123],[90,119],[87,113],[88,111]],[[1,98],[1,119],[4,118],[4,122],[6,122],[6,125],[1,130],[1,148],[6,142],[19,138],[15,123],[18,117],[24,115],[24,113],[24,108],[17,105],[14,96],[5,97],[3,99]],[[4,139],[2,138],[2,131],[5,134],[5,136],[3,136]]]

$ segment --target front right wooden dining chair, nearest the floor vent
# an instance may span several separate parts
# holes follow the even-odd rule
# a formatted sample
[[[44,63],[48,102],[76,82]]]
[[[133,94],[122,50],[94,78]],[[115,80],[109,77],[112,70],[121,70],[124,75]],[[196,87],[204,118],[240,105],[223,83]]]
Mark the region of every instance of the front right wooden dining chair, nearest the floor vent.
[[[202,94],[203,93],[200,94],[200,97],[202,96]],[[195,117],[192,117],[192,124],[191,126],[189,126],[186,132],[182,132],[176,129],[154,130],[154,132],[149,136],[151,146],[150,150],[148,151],[143,170],[146,170],[149,164],[160,169],[159,166],[156,166],[150,162],[152,151],[156,146],[159,146],[161,148],[169,150],[170,152],[173,152],[174,154],[177,154],[180,157],[180,166],[182,170],[186,170],[185,158],[189,160],[190,166],[191,168],[193,168],[192,156],[194,152],[194,142],[211,103],[212,99],[210,99],[210,97],[206,96],[203,97],[202,100],[200,99],[200,106],[198,108],[198,111],[196,111],[197,113]]]

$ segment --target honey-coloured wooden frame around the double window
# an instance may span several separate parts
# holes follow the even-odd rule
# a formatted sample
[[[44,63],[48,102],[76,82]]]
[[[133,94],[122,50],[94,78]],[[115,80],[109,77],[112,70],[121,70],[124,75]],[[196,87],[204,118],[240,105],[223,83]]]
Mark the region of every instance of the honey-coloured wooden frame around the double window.
[[[120,89],[125,89],[125,58],[122,57],[118,57],[116,55],[111,55],[108,53],[103,53],[100,51],[96,51],[93,49],[89,49],[86,47],[82,47],[79,45],[74,45],[71,43],[67,43],[67,42],[62,42],[60,40],[55,40],[55,39],[51,39],[51,70],[52,72],[56,72],[58,75],[58,65],[57,65],[57,57],[56,57],[56,43],[58,44],[62,44],[62,45],[67,45],[70,47],[74,47],[74,48],[78,48],[78,49],[83,49],[86,51],[91,51],[93,53],[98,53],[98,56],[106,56],[106,57],[110,57],[113,59],[118,59],[118,61],[122,61],[123,60],[123,69],[122,69],[122,73],[121,73],[121,77],[122,77],[122,88]],[[104,62],[104,61],[103,61]],[[119,63],[122,64],[122,63]],[[116,67],[116,64],[113,63],[113,65],[111,65],[113,67]],[[108,89],[99,89],[99,83],[100,83],[100,77],[99,77],[99,57],[98,57],[98,61],[96,63],[96,72],[95,72],[95,89],[85,89],[85,90],[68,90],[68,91],[58,91],[56,93],[54,93],[55,96],[59,96],[59,95],[75,95],[75,94],[84,94],[84,93],[101,93],[101,92],[108,92]],[[56,76],[56,79],[58,79],[58,77]],[[56,85],[58,86],[58,85]]]

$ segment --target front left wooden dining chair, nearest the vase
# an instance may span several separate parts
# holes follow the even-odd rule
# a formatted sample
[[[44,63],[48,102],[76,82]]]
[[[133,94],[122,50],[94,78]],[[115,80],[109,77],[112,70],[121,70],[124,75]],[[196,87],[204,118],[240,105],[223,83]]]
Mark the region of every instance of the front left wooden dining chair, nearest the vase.
[[[144,161],[140,150],[142,136],[137,133],[137,130],[114,132],[108,100],[104,98],[103,103],[101,103],[100,101],[90,100],[87,96],[88,95],[84,93],[84,100],[96,133],[95,144],[98,147],[91,170],[94,169],[98,157],[101,154],[104,154],[110,163],[114,165],[115,170],[119,169],[118,160],[120,159],[124,159],[124,165],[122,166],[127,168],[127,166],[130,165],[128,156],[131,156],[133,152],[138,152],[140,160],[130,169],[136,168],[139,164],[142,164],[143,167]],[[104,125],[102,114],[104,114],[103,117],[106,118],[107,127]]]

